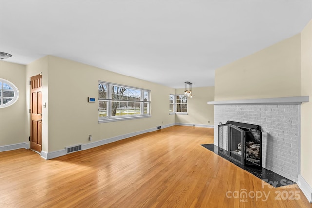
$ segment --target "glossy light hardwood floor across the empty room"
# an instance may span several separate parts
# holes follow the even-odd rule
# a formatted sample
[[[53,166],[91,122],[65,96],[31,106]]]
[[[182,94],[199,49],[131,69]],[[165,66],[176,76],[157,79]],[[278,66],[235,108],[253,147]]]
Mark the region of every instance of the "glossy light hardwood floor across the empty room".
[[[52,160],[1,152],[0,207],[312,208],[296,185],[273,188],[202,147],[213,134],[173,126]]]

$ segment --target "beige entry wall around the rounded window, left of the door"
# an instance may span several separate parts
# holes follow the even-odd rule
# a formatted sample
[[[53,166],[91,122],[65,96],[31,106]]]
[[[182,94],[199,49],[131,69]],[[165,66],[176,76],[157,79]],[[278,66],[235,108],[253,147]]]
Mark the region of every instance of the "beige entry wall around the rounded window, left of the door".
[[[0,108],[0,146],[29,143],[25,120],[26,67],[0,61],[0,78],[12,82],[19,90],[19,99],[11,106]]]

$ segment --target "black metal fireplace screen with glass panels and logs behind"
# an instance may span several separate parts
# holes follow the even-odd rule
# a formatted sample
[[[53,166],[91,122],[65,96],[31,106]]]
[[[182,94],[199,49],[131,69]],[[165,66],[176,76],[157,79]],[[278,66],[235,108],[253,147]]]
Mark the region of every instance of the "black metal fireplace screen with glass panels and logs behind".
[[[244,166],[262,167],[261,126],[235,121],[218,125],[218,153]]]

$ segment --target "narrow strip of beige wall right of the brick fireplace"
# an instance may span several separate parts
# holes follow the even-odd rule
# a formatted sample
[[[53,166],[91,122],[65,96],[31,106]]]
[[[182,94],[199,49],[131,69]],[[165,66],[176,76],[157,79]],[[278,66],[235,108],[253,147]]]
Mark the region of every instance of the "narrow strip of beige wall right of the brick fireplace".
[[[301,32],[301,176],[312,187],[312,20]]]

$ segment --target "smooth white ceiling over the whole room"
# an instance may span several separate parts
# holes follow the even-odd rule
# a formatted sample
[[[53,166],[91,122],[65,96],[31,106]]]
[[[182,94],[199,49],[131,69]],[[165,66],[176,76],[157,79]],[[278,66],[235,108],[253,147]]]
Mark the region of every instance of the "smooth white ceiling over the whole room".
[[[310,19],[312,0],[0,0],[0,51],[20,64],[53,55],[174,88],[213,86],[215,69]]]

